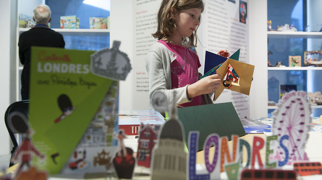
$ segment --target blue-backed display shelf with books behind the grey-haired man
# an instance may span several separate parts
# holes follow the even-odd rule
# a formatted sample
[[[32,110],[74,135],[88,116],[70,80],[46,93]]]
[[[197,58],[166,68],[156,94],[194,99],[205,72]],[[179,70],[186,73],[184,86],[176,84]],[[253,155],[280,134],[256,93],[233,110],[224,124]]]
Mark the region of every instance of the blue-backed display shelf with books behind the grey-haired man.
[[[83,0],[32,0],[30,2],[17,2],[17,28],[16,28],[16,44],[18,44],[21,33],[28,31],[35,25],[32,20],[33,8],[38,4],[47,4],[51,8],[50,28],[63,35],[65,41],[65,49],[77,50],[99,50],[109,48],[110,46],[110,29],[109,29],[109,11],[110,1],[83,1]],[[61,8],[65,7],[65,8]],[[20,18],[21,17],[21,18]],[[62,28],[62,17],[74,17],[74,27],[67,26]],[[90,17],[102,17],[107,19],[107,22],[101,23],[101,26],[93,26],[90,22]],[[33,23],[32,23],[33,22]],[[99,21],[96,22],[97,24]],[[95,24],[96,24],[95,23]],[[29,28],[25,28],[29,27]],[[74,29],[68,29],[74,28]],[[95,29],[100,28],[100,29]],[[16,67],[15,87],[12,92],[15,92],[15,101],[21,100],[21,72],[23,65],[19,61],[19,47],[16,48]]]

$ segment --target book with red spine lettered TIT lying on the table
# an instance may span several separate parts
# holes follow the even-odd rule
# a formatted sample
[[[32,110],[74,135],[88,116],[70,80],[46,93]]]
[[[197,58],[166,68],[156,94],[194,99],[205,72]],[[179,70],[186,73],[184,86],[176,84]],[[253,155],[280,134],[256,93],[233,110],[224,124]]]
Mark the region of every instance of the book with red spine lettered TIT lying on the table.
[[[154,110],[120,111],[118,117],[118,127],[123,129],[126,135],[138,135],[141,123],[161,126],[166,122],[164,117]]]

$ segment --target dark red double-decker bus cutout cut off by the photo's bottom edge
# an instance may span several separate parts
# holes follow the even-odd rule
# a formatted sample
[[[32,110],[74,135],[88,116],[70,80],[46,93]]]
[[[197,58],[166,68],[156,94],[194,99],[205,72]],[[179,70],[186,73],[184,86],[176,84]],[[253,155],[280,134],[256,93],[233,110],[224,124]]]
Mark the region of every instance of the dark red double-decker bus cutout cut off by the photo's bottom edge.
[[[296,180],[293,170],[280,169],[245,169],[240,180]]]

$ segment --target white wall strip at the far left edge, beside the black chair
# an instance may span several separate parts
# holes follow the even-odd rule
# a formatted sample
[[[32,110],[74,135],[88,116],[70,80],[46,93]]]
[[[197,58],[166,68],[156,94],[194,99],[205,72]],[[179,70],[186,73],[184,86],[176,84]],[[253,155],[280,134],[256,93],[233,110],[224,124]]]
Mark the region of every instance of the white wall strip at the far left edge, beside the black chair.
[[[0,24],[2,27],[0,33],[0,49],[1,49],[1,69],[0,69],[0,155],[10,154],[10,141],[5,121],[5,111],[10,104],[10,60],[15,57],[15,50],[12,49],[12,43],[15,42],[14,25],[12,22],[16,22],[16,19],[11,19],[11,13],[16,13],[16,1],[14,0],[1,0],[0,1]]]

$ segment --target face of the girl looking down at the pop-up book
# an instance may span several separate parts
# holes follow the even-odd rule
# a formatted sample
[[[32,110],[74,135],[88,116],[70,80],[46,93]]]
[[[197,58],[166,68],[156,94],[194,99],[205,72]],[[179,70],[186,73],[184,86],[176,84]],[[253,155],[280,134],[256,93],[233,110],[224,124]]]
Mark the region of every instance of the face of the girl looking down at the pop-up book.
[[[198,19],[201,16],[201,9],[191,8],[191,9],[182,9],[175,16],[176,20],[176,34],[179,34],[181,37],[189,37],[192,32],[199,25]]]

